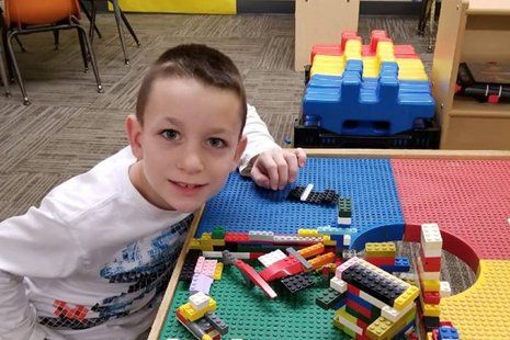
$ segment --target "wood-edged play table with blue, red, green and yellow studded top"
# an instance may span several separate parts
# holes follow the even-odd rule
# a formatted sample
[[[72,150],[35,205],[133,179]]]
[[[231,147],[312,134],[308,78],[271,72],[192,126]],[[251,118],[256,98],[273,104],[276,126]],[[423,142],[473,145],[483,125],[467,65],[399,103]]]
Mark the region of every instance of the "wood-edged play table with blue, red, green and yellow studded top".
[[[463,339],[510,336],[510,151],[309,149],[296,185],[333,189],[353,202],[351,247],[367,241],[420,241],[420,226],[438,223],[443,249],[476,273],[473,286],[441,299],[441,319],[451,320]],[[288,189],[287,189],[288,190]],[[168,285],[149,339],[192,339],[175,321],[185,303],[179,273],[191,238],[222,225],[227,231],[272,230],[331,224],[336,208],[288,202],[287,190],[257,188],[234,173],[225,190],[196,215]],[[224,270],[211,296],[230,326],[226,338],[338,339],[331,310],[314,304],[315,293],[269,301],[248,288],[235,270]],[[189,284],[188,284],[189,285]],[[324,288],[324,287],[322,287]]]

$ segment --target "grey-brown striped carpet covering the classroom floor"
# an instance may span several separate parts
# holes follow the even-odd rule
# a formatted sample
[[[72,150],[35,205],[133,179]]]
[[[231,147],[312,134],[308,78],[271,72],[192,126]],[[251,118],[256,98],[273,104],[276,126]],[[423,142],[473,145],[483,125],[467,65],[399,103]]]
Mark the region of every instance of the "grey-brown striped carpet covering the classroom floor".
[[[113,15],[99,15],[104,36],[94,41],[94,49],[104,93],[95,92],[92,72],[82,71],[76,33],[63,32],[58,50],[50,33],[22,38],[27,52],[16,56],[32,105],[22,104],[15,84],[11,98],[0,98],[0,220],[37,205],[53,186],[125,146],[123,122],[134,112],[141,75],[180,43],[204,43],[228,54],[276,141],[284,146],[292,135],[304,89],[303,72],[293,70],[293,15],[127,15],[143,44],[136,48],[126,35],[131,67],[123,63]],[[430,70],[432,54],[426,53],[428,38],[415,35],[417,24],[413,18],[362,16],[359,32],[367,43],[372,30],[386,30],[396,44],[412,44]],[[403,251],[410,254],[411,248]],[[453,256],[445,260],[443,277],[453,291],[468,287],[473,272]]]

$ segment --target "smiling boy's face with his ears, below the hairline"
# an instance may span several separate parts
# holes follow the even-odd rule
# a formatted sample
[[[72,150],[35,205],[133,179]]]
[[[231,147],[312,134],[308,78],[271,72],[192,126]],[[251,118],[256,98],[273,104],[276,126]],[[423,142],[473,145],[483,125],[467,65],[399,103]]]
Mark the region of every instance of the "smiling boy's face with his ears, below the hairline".
[[[231,90],[194,79],[154,82],[144,126],[126,128],[138,161],[129,169],[136,189],[165,209],[193,212],[215,195],[246,148],[241,101]]]

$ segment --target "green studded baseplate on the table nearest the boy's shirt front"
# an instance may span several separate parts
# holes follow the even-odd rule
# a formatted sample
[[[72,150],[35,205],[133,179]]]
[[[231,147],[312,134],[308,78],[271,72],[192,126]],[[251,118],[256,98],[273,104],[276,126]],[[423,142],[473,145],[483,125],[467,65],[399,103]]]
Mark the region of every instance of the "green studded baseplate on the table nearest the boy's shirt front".
[[[257,271],[256,261],[246,261]],[[224,339],[351,339],[333,327],[335,310],[324,310],[315,298],[329,287],[329,279],[313,274],[315,285],[291,294],[280,282],[271,282],[279,296],[271,301],[257,286],[248,287],[233,265],[225,265],[222,280],[211,287],[217,303],[216,314],[228,325]],[[175,319],[175,309],[188,302],[190,283],[180,281],[160,333],[161,340],[194,339]]]

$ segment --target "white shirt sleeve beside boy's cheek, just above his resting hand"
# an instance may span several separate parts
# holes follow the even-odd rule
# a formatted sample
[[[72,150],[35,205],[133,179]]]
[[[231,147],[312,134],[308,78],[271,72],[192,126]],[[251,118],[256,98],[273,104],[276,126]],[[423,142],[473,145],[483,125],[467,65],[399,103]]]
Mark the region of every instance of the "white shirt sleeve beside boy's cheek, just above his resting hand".
[[[248,145],[245,152],[241,156],[239,162],[239,171],[243,173],[245,169],[250,165],[250,160],[267,150],[280,148],[274,143],[273,137],[268,131],[268,126],[260,118],[254,106],[248,105],[248,113],[246,117],[246,125],[242,134],[248,138]]]

